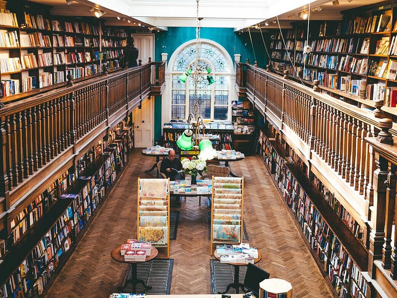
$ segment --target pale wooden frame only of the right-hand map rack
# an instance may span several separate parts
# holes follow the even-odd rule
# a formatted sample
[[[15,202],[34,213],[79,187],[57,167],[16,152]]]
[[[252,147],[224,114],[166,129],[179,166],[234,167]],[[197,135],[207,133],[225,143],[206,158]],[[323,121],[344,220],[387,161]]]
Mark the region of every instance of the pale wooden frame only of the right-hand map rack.
[[[217,179],[221,179],[222,181],[229,181],[229,182],[216,182]],[[240,237],[238,242],[232,242],[228,241],[228,239],[225,239],[224,241],[219,241],[219,240],[214,240],[213,238],[213,225],[214,225],[214,198],[215,198],[215,183],[237,183],[240,184],[240,194],[241,194],[241,203],[240,203],[240,209],[235,209],[236,213],[240,212]],[[227,190],[228,188],[224,188],[224,190]],[[219,193],[219,192],[218,192]],[[224,194],[227,194],[227,192],[222,192]],[[232,194],[232,193],[229,193]],[[213,253],[213,243],[219,243],[219,244],[239,244],[243,240],[243,198],[244,198],[244,177],[214,177],[212,176],[212,195],[211,195],[211,244],[210,244],[210,255],[212,256]],[[232,209],[230,209],[232,210]]]

